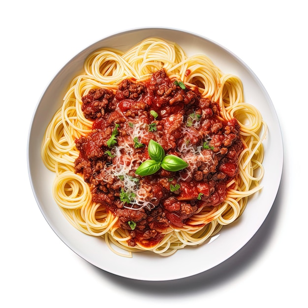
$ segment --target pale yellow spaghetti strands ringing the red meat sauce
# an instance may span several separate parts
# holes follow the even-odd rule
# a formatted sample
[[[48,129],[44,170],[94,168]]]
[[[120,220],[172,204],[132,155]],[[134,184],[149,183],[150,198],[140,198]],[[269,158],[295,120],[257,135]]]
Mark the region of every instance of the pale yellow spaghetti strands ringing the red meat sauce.
[[[183,82],[185,89],[191,89],[202,99],[216,102],[219,105],[216,118],[221,122],[231,123],[232,119],[237,119],[239,134],[245,147],[239,153],[238,172],[229,177],[230,181],[226,183],[226,195],[222,202],[200,208],[182,225],[170,224],[160,232],[157,237],[159,240],[151,245],[148,241],[135,241],[132,246],[131,230],[123,228],[121,218],[115,215],[115,211],[111,211],[106,203],[93,200],[93,187],[85,182],[81,173],[75,172],[76,161],[81,153],[76,147],[76,140],[86,138],[92,132],[93,119],[85,117],[83,97],[89,96],[93,89],[116,93],[127,79],[146,83],[160,70],[163,70],[170,80]],[[212,109],[215,107],[213,106]],[[104,112],[103,108],[100,112]],[[101,113],[99,118],[103,117]],[[113,127],[115,123],[116,120],[112,122]],[[142,136],[146,131],[145,127],[148,126],[134,123],[133,136]],[[266,124],[259,111],[244,102],[243,85],[237,76],[223,74],[205,55],[187,57],[175,43],[148,38],[127,52],[104,48],[93,52],[86,59],[84,74],[73,79],[64,96],[62,107],[46,129],[41,155],[46,167],[56,174],[53,185],[56,203],[75,228],[104,238],[107,246],[122,256],[131,257],[132,252],[145,250],[168,256],[185,246],[205,243],[217,234],[223,225],[232,223],[242,215],[248,196],[261,189],[259,182],[264,173],[262,141],[265,135]],[[148,145],[148,142],[145,144]],[[119,157],[125,151],[130,153],[132,148],[124,149],[122,146],[120,149],[119,143],[118,147],[111,148],[113,152],[109,151],[109,154],[110,157]],[[185,149],[188,153],[187,147]],[[200,151],[198,154],[201,155]],[[204,154],[202,155],[204,157]],[[185,157],[189,162],[189,155]],[[112,161],[115,163],[115,160]],[[137,194],[139,192],[131,179],[131,171],[135,171],[135,165],[138,166],[141,162],[142,159],[139,159],[125,164],[122,160],[112,169],[113,176],[121,177],[123,186],[129,186]],[[203,193],[198,197],[201,198],[201,195]],[[144,204],[145,200],[141,198],[141,201]],[[116,247],[125,251],[121,252]]]

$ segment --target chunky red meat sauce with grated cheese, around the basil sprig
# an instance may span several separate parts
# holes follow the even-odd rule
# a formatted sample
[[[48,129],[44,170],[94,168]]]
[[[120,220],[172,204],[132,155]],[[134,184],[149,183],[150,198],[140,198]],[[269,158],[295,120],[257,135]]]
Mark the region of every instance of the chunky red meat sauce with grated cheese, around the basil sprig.
[[[154,246],[170,227],[189,225],[191,216],[225,199],[226,185],[238,175],[244,144],[237,120],[222,121],[216,102],[182,87],[161,69],[145,82],[125,79],[115,93],[92,89],[82,98],[93,124],[75,140],[75,172],[90,185],[92,200],[129,230],[129,246]],[[136,175],[150,158],[151,139],[188,166]]]

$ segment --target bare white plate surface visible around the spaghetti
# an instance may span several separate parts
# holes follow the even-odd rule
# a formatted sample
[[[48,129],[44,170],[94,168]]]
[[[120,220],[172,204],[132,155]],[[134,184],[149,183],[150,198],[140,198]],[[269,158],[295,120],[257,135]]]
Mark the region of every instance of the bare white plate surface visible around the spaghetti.
[[[142,252],[125,258],[111,252],[102,239],[77,231],[62,216],[52,196],[55,175],[43,165],[40,147],[48,123],[62,104],[70,81],[82,71],[86,57],[101,47],[125,51],[150,36],[177,42],[187,55],[203,53],[223,72],[242,79],[246,102],[260,110],[268,125],[268,135],[264,141],[264,188],[248,200],[240,219],[224,227],[209,243],[185,247],[170,257]],[[119,276],[140,280],[189,277],[207,271],[235,254],[252,238],[268,215],[280,184],[282,164],[282,138],[277,115],[270,97],[254,73],[238,57],[217,43],[193,33],[172,29],[125,31],[104,38],[80,52],[60,70],[43,93],[33,115],[28,140],[28,168],[33,193],[51,228],[68,247],[92,265]]]

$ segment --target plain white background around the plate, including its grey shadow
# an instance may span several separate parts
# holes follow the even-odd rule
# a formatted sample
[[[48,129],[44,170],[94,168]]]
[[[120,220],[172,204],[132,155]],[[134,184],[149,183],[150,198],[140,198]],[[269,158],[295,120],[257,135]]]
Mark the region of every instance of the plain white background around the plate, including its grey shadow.
[[[1,4],[1,307],[292,307],[307,305],[307,10],[304,1],[11,1]],[[255,236],[215,268],[138,281],[93,267],[49,227],[32,193],[27,138],[54,75],[119,31],[167,27],[208,37],[254,71],[284,142],[277,198]],[[175,306],[175,307],[176,307]],[[307,306],[306,306],[307,307]]]

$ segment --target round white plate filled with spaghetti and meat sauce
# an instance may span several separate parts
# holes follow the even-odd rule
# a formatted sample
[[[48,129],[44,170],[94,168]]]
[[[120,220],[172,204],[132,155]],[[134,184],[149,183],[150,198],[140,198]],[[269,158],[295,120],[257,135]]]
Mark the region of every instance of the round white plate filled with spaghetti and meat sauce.
[[[54,232],[92,265],[141,280],[196,275],[245,246],[282,164],[259,79],[218,43],[175,29],[123,31],[75,55],[42,94],[28,140]]]

